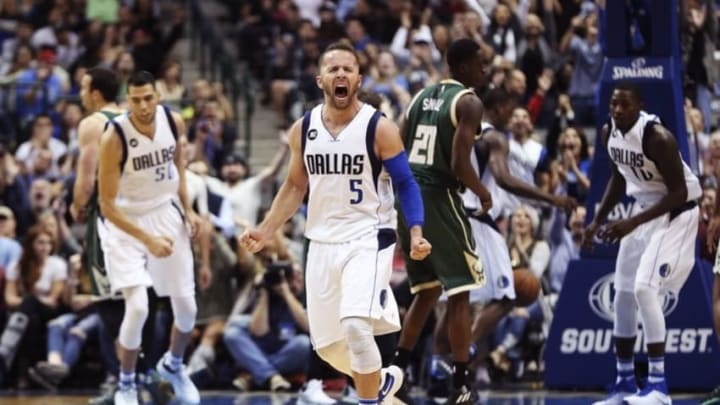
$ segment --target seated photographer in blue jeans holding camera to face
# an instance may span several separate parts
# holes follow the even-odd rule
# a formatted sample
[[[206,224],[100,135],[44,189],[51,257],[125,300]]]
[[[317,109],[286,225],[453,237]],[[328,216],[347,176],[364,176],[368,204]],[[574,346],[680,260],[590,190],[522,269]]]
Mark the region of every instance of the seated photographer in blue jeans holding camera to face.
[[[305,308],[302,272],[289,261],[277,261],[261,253],[265,271],[255,278],[253,297],[244,315],[233,316],[224,338],[236,364],[251,373],[233,385],[241,391],[251,386],[270,391],[291,388],[285,377],[305,372],[310,356],[310,338]]]

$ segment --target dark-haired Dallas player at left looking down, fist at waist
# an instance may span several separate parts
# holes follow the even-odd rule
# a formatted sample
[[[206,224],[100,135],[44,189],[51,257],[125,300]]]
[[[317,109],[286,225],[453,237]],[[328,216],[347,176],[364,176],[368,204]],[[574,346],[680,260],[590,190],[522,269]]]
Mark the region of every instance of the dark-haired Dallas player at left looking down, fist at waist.
[[[190,233],[199,222],[187,198],[177,142],[185,124],[158,105],[155,78],[148,72],[130,77],[127,98],[130,113],[115,118],[101,138],[98,172],[105,267],[112,290],[125,299],[115,404],[138,403],[135,363],[150,285],[158,296],[170,296],[175,318],[170,349],[157,371],[181,402],[199,404],[200,394],[182,366],[197,313]]]

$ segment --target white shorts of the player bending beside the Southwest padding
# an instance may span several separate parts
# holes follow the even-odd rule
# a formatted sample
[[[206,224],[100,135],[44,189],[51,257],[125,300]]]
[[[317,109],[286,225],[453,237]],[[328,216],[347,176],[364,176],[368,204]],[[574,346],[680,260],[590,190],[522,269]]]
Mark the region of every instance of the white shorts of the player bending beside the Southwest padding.
[[[615,290],[632,292],[636,283],[679,292],[695,264],[699,210],[665,214],[635,228],[620,241]]]

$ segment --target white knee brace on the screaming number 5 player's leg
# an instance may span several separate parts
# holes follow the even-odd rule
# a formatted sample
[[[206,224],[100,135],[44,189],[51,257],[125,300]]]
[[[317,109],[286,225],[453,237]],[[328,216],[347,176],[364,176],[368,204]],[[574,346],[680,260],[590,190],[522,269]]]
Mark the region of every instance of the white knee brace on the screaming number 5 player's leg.
[[[380,370],[382,360],[375,344],[372,321],[369,318],[349,317],[340,320],[340,324],[350,349],[352,371],[368,374]]]

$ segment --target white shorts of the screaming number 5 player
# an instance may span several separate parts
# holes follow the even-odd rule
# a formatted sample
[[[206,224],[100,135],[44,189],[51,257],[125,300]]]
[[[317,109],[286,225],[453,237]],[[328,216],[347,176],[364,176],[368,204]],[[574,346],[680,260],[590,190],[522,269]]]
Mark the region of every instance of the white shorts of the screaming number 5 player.
[[[311,241],[305,289],[310,338],[315,349],[345,339],[340,320],[373,320],[375,335],[400,330],[390,274],[395,251],[395,230],[344,243]]]

